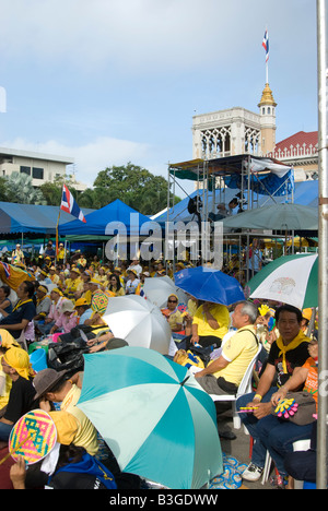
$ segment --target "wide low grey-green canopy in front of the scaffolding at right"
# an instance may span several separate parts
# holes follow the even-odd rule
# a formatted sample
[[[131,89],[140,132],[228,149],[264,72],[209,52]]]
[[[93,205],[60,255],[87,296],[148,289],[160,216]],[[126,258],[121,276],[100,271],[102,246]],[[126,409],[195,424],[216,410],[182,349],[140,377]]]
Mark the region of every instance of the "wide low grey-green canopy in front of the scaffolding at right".
[[[257,207],[223,221],[224,228],[318,230],[318,210],[300,204]]]

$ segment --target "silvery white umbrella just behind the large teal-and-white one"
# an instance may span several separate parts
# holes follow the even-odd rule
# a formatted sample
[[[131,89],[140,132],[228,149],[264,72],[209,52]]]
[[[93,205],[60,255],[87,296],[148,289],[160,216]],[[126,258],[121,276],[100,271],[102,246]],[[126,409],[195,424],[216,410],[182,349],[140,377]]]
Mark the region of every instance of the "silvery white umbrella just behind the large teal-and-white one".
[[[124,338],[130,346],[148,347],[167,355],[171,328],[159,307],[142,296],[108,298],[103,320],[115,337]]]

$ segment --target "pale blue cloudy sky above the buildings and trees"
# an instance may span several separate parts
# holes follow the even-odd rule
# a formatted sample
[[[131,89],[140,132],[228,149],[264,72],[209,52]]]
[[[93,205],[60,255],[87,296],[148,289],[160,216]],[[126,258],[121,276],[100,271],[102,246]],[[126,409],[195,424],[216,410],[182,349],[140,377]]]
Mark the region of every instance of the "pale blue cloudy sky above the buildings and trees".
[[[317,130],[315,0],[0,0],[0,146],[75,159],[77,179],[192,157],[192,116],[258,111],[277,142]],[[180,197],[184,197],[180,193]]]

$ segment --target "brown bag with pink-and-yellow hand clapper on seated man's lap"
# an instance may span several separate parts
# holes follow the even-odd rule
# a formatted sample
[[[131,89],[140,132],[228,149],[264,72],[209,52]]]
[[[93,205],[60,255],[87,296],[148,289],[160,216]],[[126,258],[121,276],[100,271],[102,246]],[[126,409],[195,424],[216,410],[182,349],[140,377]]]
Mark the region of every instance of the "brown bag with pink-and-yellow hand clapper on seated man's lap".
[[[308,392],[288,392],[278,406],[272,406],[271,414],[281,420],[306,426],[315,421],[316,402]]]

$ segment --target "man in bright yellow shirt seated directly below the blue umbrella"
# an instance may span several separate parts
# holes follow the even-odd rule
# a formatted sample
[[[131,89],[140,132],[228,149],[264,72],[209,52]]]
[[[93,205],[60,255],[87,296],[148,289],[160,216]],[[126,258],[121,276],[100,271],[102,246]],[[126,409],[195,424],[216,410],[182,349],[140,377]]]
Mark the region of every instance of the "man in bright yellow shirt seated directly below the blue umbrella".
[[[203,347],[216,344],[220,347],[229,323],[230,314],[225,306],[206,301],[194,316],[190,343]]]

